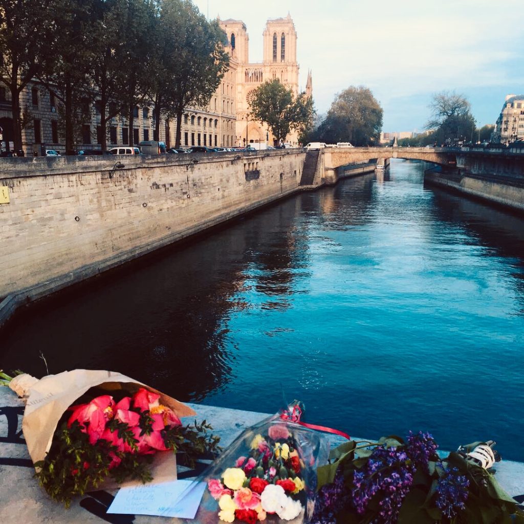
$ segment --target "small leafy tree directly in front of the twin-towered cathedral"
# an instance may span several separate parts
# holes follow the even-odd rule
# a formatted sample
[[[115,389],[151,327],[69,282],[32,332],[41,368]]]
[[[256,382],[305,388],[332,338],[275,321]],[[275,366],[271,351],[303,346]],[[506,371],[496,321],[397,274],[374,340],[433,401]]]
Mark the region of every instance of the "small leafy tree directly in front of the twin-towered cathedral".
[[[285,141],[291,130],[303,132],[313,118],[313,100],[305,93],[294,96],[278,79],[259,85],[249,105],[249,116],[267,124],[279,142]]]

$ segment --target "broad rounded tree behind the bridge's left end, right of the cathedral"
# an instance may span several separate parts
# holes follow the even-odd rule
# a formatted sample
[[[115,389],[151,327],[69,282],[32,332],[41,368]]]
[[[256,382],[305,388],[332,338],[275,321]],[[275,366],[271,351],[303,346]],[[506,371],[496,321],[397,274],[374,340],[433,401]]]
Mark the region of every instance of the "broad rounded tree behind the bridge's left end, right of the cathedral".
[[[383,110],[368,88],[350,86],[336,95],[317,135],[328,143],[376,145],[382,130],[382,116]]]

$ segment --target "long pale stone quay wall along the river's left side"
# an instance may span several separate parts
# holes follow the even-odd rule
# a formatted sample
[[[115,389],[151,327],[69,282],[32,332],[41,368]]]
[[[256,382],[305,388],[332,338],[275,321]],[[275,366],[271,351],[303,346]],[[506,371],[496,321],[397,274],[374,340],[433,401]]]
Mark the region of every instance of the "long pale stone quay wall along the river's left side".
[[[0,302],[11,301],[0,310],[290,195],[304,158],[277,150],[0,159]],[[113,170],[117,161],[124,167]]]

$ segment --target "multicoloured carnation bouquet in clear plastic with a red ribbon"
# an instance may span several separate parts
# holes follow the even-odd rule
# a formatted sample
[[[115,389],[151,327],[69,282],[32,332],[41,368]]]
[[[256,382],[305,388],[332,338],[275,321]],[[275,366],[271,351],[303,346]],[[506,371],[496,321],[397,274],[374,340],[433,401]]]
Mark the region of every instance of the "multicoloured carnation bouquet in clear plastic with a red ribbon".
[[[329,449],[324,435],[292,416],[297,409],[245,430],[198,479],[207,485],[199,522],[309,522],[316,467]]]

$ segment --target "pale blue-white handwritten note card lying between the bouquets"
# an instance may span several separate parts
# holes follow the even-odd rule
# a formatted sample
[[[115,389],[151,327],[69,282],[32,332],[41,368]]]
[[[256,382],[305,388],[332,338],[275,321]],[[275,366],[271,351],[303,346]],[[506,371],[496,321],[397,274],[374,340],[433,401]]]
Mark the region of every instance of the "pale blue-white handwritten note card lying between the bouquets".
[[[205,482],[173,481],[121,488],[108,513],[194,519]]]

